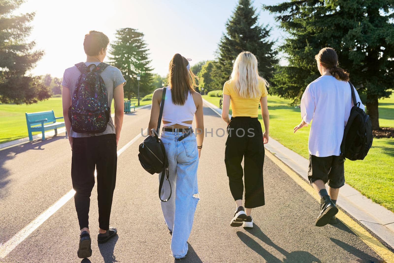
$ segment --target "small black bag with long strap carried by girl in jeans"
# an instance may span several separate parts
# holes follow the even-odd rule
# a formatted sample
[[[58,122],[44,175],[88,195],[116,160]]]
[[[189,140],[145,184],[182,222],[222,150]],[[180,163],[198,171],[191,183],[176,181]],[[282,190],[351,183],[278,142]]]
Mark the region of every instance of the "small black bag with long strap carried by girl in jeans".
[[[165,100],[165,91],[167,88],[163,88],[163,96],[162,102],[160,103],[160,114],[157,121],[156,130],[152,129],[152,135],[149,135],[141,144],[139,145],[139,153],[138,159],[141,163],[141,166],[150,174],[154,173],[162,173],[160,177],[159,184],[159,198],[161,201],[166,202],[170,199],[172,189],[171,183],[168,181],[168,160],[167,155],[165,154],[165,148],[162,140],[159,138],[159,130],[160,124],[162,122],[163,108],[164,108],[164,100]],[[162,200],[161,193],[162,187],[164,183],[164,177],[168,181],[170,185],[170,194],[166,200]]]

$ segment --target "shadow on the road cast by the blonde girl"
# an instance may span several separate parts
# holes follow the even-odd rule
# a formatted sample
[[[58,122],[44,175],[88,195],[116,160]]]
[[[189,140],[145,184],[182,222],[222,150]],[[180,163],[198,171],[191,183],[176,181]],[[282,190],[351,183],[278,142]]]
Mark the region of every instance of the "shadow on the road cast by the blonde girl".
[[[258,239],[260,239],[261,241],[263,241],[264,243],[266,243],[267,245],[272,246],[278,252],[283,254],[283,256],[285,256],[283,261],[281,261],[277,257],[273,256],[271,253],[269,253],[267,250],[265,250],[253,238],[249,237],[248,235],[246,235],[245,233],[243,233],[241,231],[237,231],[237,235],[241,239],[241,241],[244,242],[247,246],[249,246],[249,248],[254,250],[257,254],[262,256],[267,262],[274,262],[274,263],[276,263],[276,262],[289,262],[289,263],[290,262],[303,262],[303,263],[319,262],[319,263],[321,263],[322,262],[317,257],[313,256],[312,254],[310,254],[309,252],[306,252],[306,251],[299,250],[299,251],[293,251],[290,253],[287,252],[286,250],[284,250],[283,248],[281,248],[280,246],[278,246],[277,244],[272,242],[271,239],[269,239],[269,237],[267,237],[261,231],[261,229],[258,226],[256,226],[256,224],[253,224],[253,229],[247,229],[247,231],[249,233],[251,233],[252,235],[254,235],[255,237],[257,237]]]

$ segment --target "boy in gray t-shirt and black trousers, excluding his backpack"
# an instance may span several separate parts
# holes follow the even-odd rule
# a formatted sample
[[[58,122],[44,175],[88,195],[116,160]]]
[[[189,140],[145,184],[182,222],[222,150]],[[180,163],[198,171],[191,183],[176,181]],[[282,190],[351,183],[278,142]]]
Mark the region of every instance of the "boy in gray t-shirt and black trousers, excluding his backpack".
[[[97,67],[103,62],[107,54],[108,43],[108,37],[102,32],[90,31],[89,34],[85,35],[86,67],[94,68],[92,64]],[[89,70],[92,70],[91,67],[89,67]],[[97,170],[97,201],[99,204],[99,235],[97,241],[99,243],[106,242],[117,234],[116,228],[110,228],[109,224],[116,181],[116,149],[123,123],[123,85],[126,80],[119,69],[110,65],[100,72],[108,96],[108,105],[111,105],[112,99],[115,101],[115,122],[113,123],[110,113],[104,132],[78,133],[72,130],[69,108],[81,74],[76,66],[66,69],[61,85],[63,86],[63,117],[72,150],[72,187],[76,191],[74,201],[81,229],[78,257],[85,258],[92,254],[88,219],[90,195],[95,185],[95,169]]]

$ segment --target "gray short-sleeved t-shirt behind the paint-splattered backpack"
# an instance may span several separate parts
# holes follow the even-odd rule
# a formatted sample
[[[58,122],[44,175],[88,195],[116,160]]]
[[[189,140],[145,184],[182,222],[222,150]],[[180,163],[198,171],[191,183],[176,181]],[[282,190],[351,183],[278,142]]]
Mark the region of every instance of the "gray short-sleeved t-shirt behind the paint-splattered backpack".
[[[85,62],[87,66],[91,64],[95,64],[96,66],[100,64],[100,62]],[[93,67],[93,66],[92,66]],[[74,67],[69,67],[64,71],[63,81],[61,82],[61,86],[68,88],[70,92],[70,97],[74,94],[76,82],[81,75],[79,69]],[[104,80],[105,87],[107,88],[108,95],[108,104],[111,105],[113,99],[113,89],[119,86],[120,84],[126,82],[125,78],[123,78],[122,72],[113,66],[108,66],[100,73],[102,80]],[[102,133],[78,133],[70,131],[70,137],[89,137],[89,136],[99,136],[103,134],[115,133],[115,126],[113,125],[112,117],[110,114],[110,121],[108,121],[107,129]]]

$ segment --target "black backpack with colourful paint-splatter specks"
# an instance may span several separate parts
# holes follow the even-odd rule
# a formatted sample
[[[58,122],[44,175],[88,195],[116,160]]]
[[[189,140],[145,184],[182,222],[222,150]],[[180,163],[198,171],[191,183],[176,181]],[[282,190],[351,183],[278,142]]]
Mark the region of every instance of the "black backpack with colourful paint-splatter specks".
[[[100,133],[107,129],[110,120],[110,105],[107,89],[100,73],[108,67],[84,62],[75,64],[82,75],[78,78],[69,108],[72,131],[80,133]],[[94,69],[90,69],[94,66]]]

